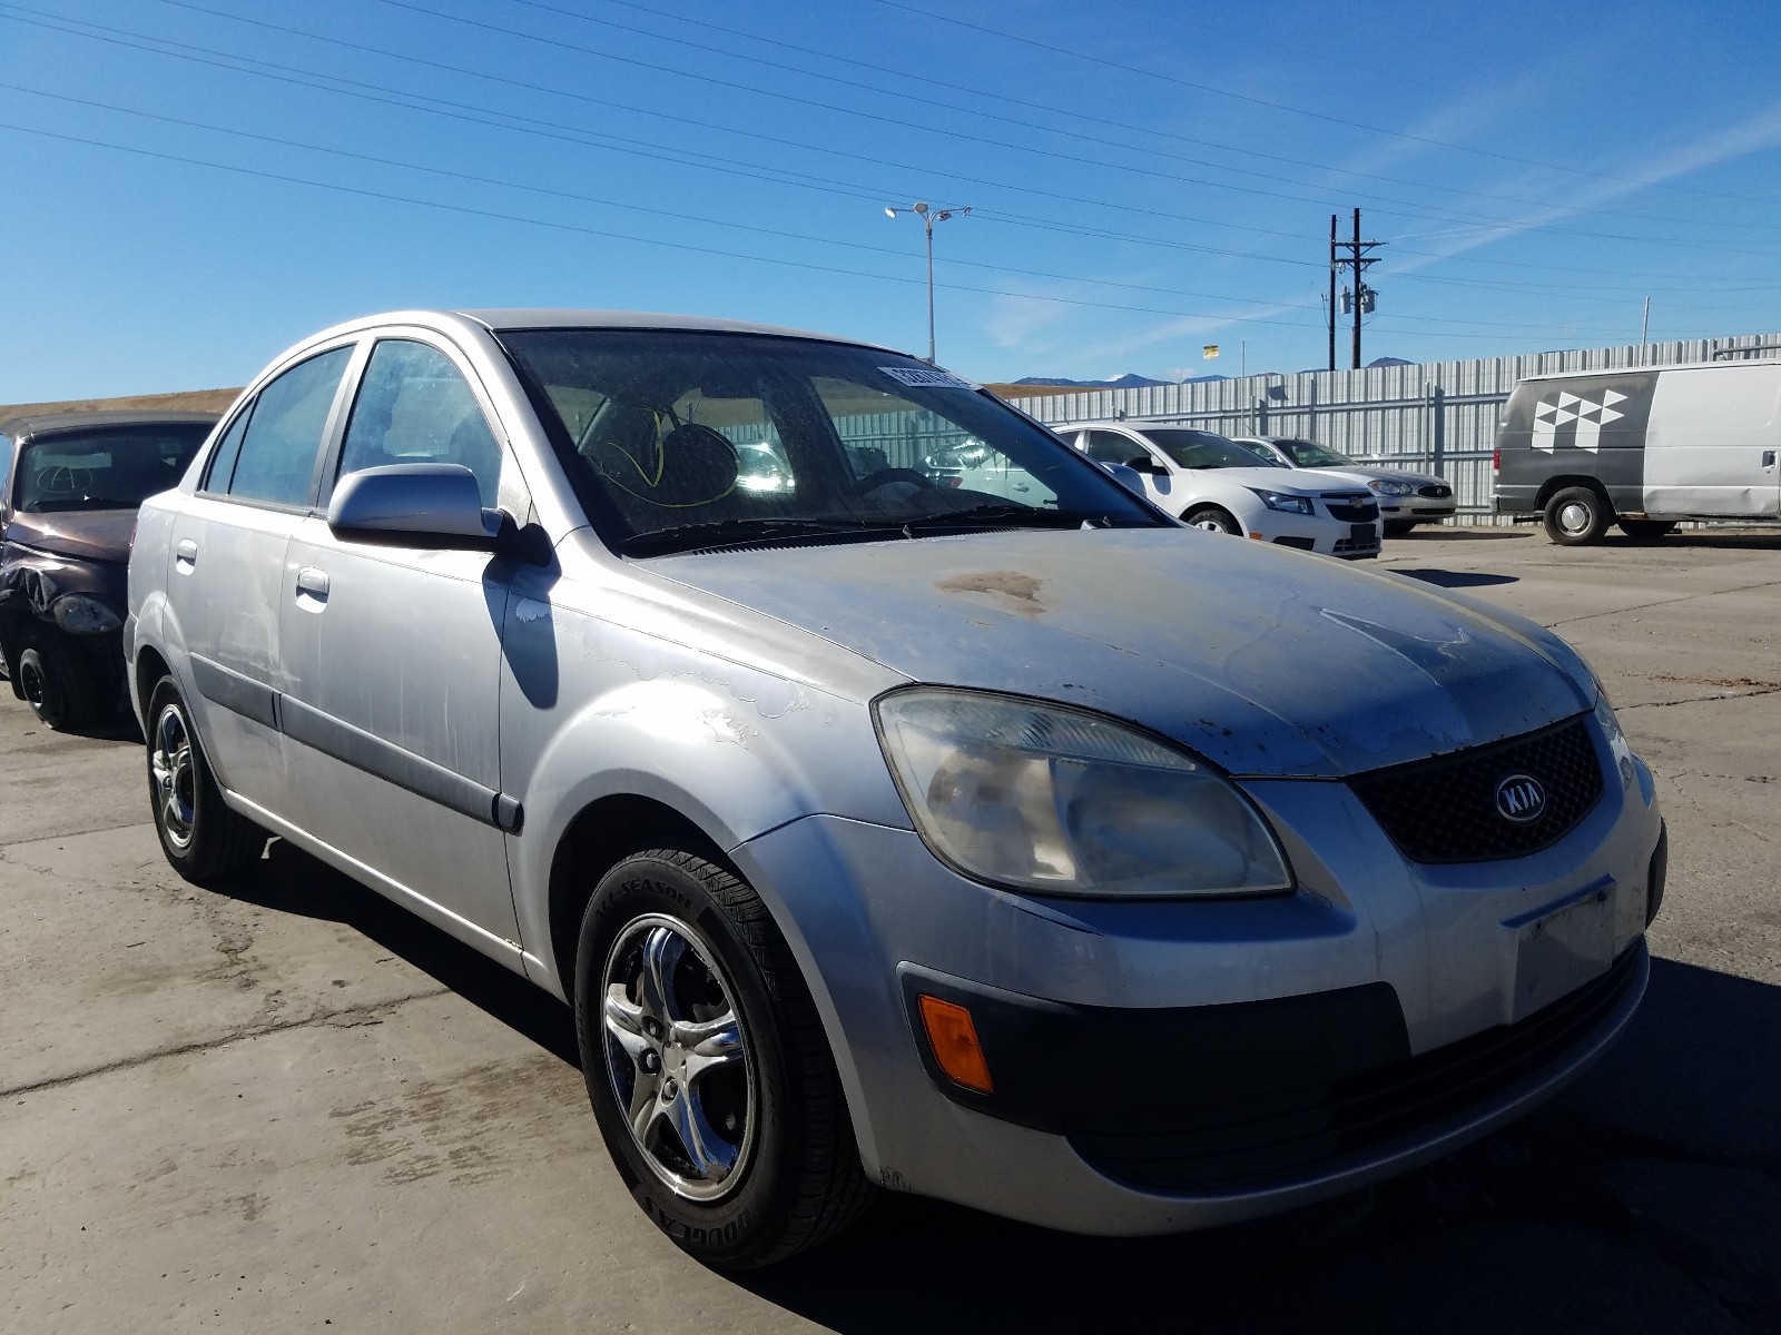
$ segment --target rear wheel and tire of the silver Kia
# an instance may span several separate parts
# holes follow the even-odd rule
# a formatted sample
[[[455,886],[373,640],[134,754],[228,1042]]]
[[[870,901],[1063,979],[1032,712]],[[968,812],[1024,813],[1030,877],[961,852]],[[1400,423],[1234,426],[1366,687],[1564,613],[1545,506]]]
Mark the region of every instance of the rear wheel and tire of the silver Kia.
[[[265,849],[265,831],[223,801],[171,676],[155,684],[148,701],[148,799],[160,851],[192,885],[237,876]]]

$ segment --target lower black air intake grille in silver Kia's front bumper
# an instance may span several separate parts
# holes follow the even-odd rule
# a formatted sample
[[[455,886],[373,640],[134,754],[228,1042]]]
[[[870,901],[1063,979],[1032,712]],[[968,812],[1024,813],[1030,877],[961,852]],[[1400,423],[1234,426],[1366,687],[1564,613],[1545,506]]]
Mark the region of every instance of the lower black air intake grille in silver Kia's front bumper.
[[[1644,945],[1526,1020],[1329,1084],[1208,1109],[1191,1123],[1136,1134],[1072,1134],[1101,1173],[1152,1191],[1259,1191],[1377,1157],[1459,1121],[1599,1032],[1639,983]]]

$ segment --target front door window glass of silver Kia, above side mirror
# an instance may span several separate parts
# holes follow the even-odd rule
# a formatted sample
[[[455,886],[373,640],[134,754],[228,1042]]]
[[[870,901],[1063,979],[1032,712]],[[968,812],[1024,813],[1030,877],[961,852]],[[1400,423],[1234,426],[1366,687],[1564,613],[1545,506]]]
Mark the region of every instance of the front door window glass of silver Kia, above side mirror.
[[[342,477],[392,463],[461,463],[484,507],[500,490],[502,449],[468,381],[451,358],[411,338],[370,351],[340,449]]]

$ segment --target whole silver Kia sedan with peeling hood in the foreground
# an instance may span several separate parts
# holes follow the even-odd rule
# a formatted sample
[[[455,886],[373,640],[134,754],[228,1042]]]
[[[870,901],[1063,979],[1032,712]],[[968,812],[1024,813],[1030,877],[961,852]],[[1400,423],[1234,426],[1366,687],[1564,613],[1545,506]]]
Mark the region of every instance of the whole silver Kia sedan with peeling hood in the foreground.
[[[1031,490],[857,470],[898,424]],[[768,427],[793,486],[739,488]],[[1341,1193],[1646,988],[1663,822],[1562,639],[1183,532],[880,347],[328,329],[144,504],[125,651],[169,863],[280,835],[568,1002],[716,1266],[878,1185],[1124,1235]]]

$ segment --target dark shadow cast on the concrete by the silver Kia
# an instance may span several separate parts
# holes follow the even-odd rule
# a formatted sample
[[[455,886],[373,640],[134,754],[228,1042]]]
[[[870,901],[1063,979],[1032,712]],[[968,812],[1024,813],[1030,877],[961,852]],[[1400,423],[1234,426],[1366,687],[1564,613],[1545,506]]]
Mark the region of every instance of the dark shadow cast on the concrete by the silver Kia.
[[[283,840],[226,894],[347,926],[579,1064],[568,1007]],[[1656,959],[1630,1032],[1564,1096],[1272,1219],[1094,1239],[887,1193],[732,1280],[844,1335],[1781,1330],[1781,988]]]

